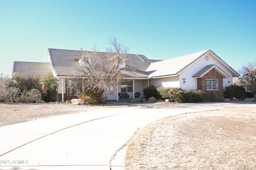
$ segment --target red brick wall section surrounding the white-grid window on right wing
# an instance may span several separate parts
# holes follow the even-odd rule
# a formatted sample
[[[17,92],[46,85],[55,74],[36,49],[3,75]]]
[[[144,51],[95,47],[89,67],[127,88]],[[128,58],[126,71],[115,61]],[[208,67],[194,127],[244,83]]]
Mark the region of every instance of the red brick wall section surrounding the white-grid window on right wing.
[[[218,79],[219,90],[206,90],[206,79]],[[197,79],[197,89],[205,92],[205,100],[223,99],[223,76],[215,69],[206,73],[202,78]]]

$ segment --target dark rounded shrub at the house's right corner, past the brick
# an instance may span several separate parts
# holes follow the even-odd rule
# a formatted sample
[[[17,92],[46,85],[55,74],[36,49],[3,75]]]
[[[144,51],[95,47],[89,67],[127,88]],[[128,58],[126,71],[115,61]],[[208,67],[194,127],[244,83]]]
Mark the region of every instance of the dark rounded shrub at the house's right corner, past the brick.
[[[236,84],[226,87],[224,94],[225,94],[226,98],[231,99],[231,98],[235,97],[239,100],[243,100],[246,95],[245,88],[242,86],[238,86]]]

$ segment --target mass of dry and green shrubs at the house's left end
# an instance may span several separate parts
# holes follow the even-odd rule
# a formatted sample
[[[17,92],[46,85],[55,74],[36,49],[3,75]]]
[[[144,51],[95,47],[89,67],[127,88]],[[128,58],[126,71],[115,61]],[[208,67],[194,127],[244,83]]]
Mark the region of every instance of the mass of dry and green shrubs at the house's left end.
[[[57,79],[52,73],[42,79],[14,76],[11,82],[0,86],[0,102],[36,103],[39,99],[54,100],[57,94]]]

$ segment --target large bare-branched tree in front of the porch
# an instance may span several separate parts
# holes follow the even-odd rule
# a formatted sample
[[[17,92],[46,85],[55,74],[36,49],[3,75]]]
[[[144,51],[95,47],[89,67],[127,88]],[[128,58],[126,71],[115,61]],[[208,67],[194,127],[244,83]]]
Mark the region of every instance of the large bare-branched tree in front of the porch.
[[[110,45],[107,53],[99,53],[94,47],[93,52],[85,51],[78,56],[81,67],[78,67],[78,77],[73,79],[74,89],[79,89],[84,82],[84,93],[93,97],[98,103],[102,103],[103,94],[110,86],[118,83],[123,72],[130,72],[129,61],[126,58],[129,48],[118,43],[115,37],[108,41]],[[126,65],[126,66],[124,66]],[[76,91],[81,93],[82,89]]]

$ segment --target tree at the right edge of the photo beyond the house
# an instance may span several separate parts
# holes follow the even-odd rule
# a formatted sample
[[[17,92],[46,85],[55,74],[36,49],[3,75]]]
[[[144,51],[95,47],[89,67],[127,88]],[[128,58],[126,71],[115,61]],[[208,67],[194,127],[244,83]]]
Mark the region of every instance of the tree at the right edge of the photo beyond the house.
[[[242,67],[240,71],[241,77],[239,83],[254,93],[254,100],[256,98],[256,62],[248,63]]]

